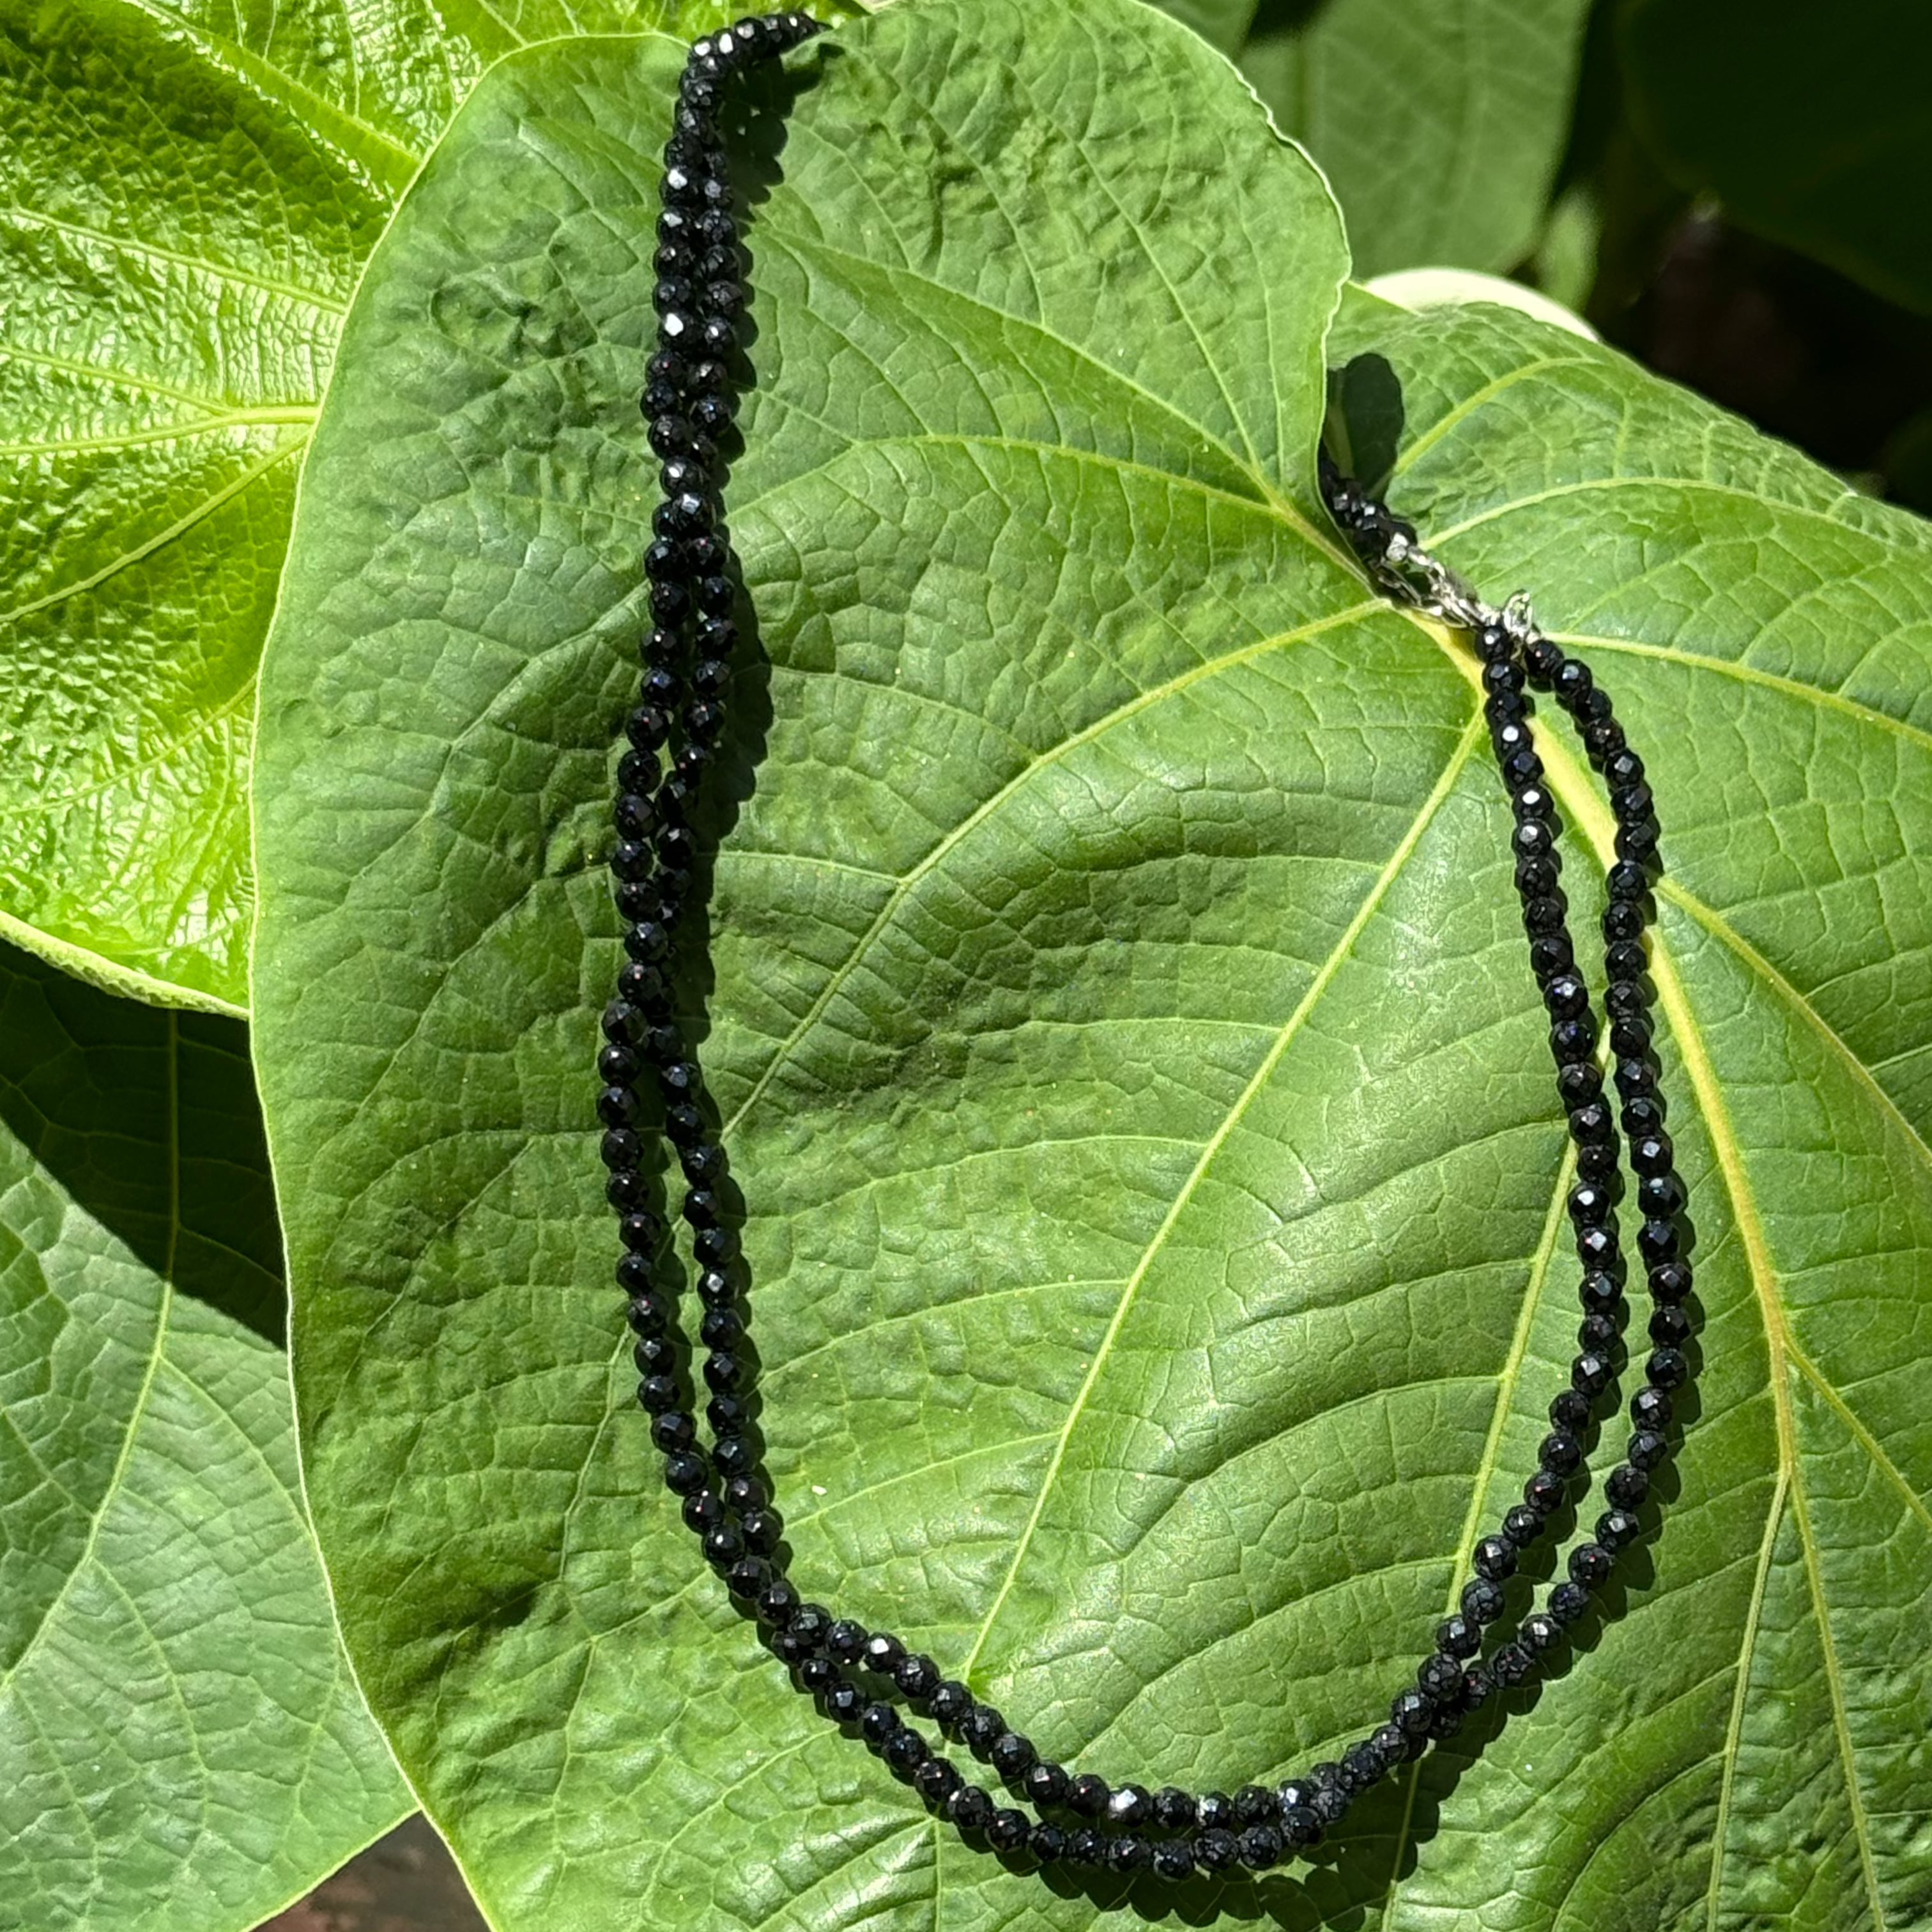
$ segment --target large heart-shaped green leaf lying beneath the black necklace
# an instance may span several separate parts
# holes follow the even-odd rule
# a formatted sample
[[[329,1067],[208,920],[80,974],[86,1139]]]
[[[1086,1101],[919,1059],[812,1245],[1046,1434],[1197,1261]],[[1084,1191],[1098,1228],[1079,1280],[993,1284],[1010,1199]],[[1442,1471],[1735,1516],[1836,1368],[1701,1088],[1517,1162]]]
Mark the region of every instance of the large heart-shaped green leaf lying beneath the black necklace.
[[[1057,1754],[1277,1772],[1424,1646],[1575,1321],[1472,667],[1320,533],[1337,226],[1209,52],[1113,0],[935,0],[794,71],[709,1061],[796,1575]],[[311,1503],[371,1704],[512,1932],[1072,1932],[1117,1893],[1003,1872],[831,1735],[630,1412],[587,1065],[672,73],[643,41],[485,83],[303,481],[255,995]],[[1360,460],[1401,446],[1486,583],[1607,639],[1656,752],[1708,1325],[1621,1615],[1231,1903],[1911,1924],[1932,545],[1575,336],[1349,330],[1383,355],[1343,384]]]

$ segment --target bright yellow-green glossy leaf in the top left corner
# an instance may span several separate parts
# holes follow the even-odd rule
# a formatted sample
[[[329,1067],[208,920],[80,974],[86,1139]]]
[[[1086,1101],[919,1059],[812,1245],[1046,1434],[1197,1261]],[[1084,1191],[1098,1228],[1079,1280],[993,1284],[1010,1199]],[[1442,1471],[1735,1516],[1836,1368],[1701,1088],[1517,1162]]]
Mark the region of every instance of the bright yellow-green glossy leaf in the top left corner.
[[[489,60],[734,12],[0,0],[0,935],[240,1010],[255,667],[363,257]]]

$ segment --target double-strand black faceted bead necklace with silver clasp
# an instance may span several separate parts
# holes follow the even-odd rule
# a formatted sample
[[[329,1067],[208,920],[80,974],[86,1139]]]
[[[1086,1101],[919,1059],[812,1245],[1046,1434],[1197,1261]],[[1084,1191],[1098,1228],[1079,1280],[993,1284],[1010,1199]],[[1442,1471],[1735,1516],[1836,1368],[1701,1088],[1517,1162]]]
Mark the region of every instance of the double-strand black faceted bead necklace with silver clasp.
[[[734,556],[719,498],[715,437],[736,413],[732,357],[744,309],[738,220],[719,145],[719,110],[734,75],[819,33],[804,14],[767,14],[699,41],[678,89],[670,145],[665,149],[663,214],[655,267],[659,354],[651,357],[643,413],[651,448],[663,462],[665,500],[657,541],[645,554],[653,628],[645,639],[643,694],[630,713],[630,750],[618,765],[616,833],[611,860],[624,920],[626,964],[605,1010],[607,1045],[597,1057],[603,1092],[607,1196],[618,1213],[624,1254],[616,1279],[630,1296],[641,1374],[638,1399],[651,1437],[665,1453],[665,1482],[682,1497],[684,1520],[723,1575],[738,1607],[753,1617],[802,1690],[835,1723],[856,1729],[966,1843],[1041,1866],[1151,1868],[1163,1880],[1233,1866],[1265,1870],[1316,1845],[1350,1803],[1395,1766],[1453,1735],[1468,1712],[1499,1689],[1532,1677],[1565,1640],[1609,1578],[1615,1553],[1640,1532],[1636,1511],[1650,1472],[1669,1455],[1671,1391],[1689,1379],[1683,1347],[1690,1335],[1685,1300],[1690,1267],[1679,1254],[1685,1190],[1663,1130],[1656,1061],[1650,1051],[1650,989],[1644,931],[1654,914],[1650,871],[1658,823],[1642,759],[1625,744],[1607,694],[1590,668],[1540,636],[1519,597],[1497,611],[1480,603],[1424,553],[1416,531],[1391,516],[1325,458],[1321,485],[1329,510],[1372,582],[1395,603],[1466,630],[1482,659],[1484,713],[1515,808],[1513,848],[1530,968],[1549,1010],[1557,1092],[1577,1150],[1569,1213],[1582,1262],[1582,1323],[1571,1385],[1549,1403],[1551,1430],[1522,1501],[1472,1551],[1463,1607],[1435,1631],[1435,1648],[1397,1690],[1387,1721],[1333,1762],[1277,1787],[1244,1785],[1188,1793],[1138,1783],[1111,1785],[1094,1772],[1074,1774],[1043,1758],[1020,1731],[939,1665],[906,1650],[889,1631],[867,1631],[800,1598],[784,1575],[782,1526],[757,1474],[740,1296],[738,1236],[723,1219],[724,1150],[703,1105],[703,1074],[694,1034],[678,1018],[668,980],[674,933],[692,904],[697,858],[694,808],[724,726],[723,696],[738,639]],[[1577,970],[1559,889],[1557,815],[1530,734],[1528,686],[1553,694],[1569,713],[1590,763],[1609,786],[1617,821],[1617,862],[1607,875],[1604,964],[1613,1082],[1640,1209],[1638,1250],[1646,1269],[1656,1343],[1644,1385],[1631,1399],[1634,1430],[1604,1484],[1609,1507],[1596,1534],[1578,1542],[1567,1577],[1488,1658],[1484,1634],[1505,1609],[1503,1584],[1519,1555],[1542,1538],[1582,1472],[1584,1435],[1598,1399],[1615,1379],[1623,1329],[1623,1260],[1617,1244],[1619,1136],[1613,1103],[1598,1066],[1598,1028]],[[670,771],[667,746],[676,742]],[[638,1082],[649,1074],[665,1109],[665,1136],[684,1173],[684,1219],[697,1260],[709,1389],[709,1449],[699,1441],[688,1395],[686,1345],[678,1310],[665,1289],[667,1225],[651,1206],[638,1132]],[[929,1718],[945,1737],[991,1766],[1007,1791],[1003,1804],[964,1777],[902,1708]]]

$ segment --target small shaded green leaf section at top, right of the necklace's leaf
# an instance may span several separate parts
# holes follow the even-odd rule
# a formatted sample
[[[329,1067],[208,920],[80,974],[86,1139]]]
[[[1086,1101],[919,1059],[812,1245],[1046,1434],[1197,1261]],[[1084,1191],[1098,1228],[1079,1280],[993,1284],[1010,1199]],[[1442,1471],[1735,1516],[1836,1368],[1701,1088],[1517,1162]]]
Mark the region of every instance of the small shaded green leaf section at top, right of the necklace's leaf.
[[[1358,276],[1501,270],[1542,232],[1588,14],[1588,0],[1262,0],[1240,64],[1335,184]]]

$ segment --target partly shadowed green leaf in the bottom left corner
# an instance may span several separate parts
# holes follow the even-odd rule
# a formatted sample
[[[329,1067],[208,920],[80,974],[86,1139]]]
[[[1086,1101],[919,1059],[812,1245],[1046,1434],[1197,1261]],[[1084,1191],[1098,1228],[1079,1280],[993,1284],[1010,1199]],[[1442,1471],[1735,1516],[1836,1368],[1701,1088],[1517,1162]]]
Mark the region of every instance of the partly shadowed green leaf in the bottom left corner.
[[[296,1480],[247,1041],[0,947],[0,1895],[224,1932],[410,1808]]]

